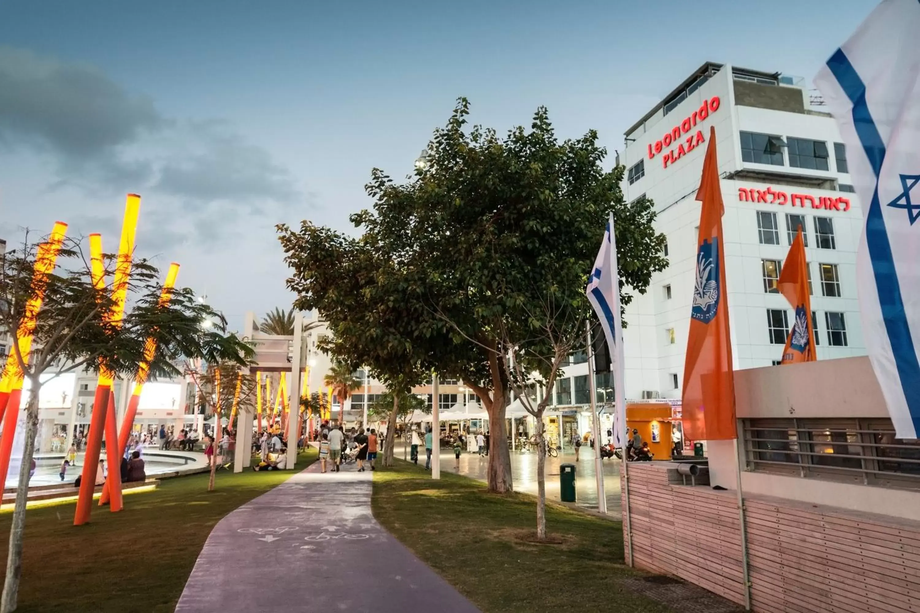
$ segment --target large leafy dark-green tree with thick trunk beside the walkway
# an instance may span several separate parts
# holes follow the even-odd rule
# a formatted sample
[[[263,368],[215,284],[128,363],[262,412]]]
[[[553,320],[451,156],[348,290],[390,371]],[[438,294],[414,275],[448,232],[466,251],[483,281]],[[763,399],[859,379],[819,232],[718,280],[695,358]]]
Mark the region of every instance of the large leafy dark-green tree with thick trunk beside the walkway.
[[[341,291],[326,277],[343,261],[361,263],[355,268],[362,274],[344,281],[342,296],[371,311],[398,312],[378,320],[385,335],[421,365],[476,392],[489,412],[489,489],[508,492],[507,358],[528,341],[522,330],[541,327],[539,317],[531,320],[547,288],[566,296],[583,291],[613,212],[626,305],[625,288],[644,291],[666,266],[664,238],[651,225],[649,200],[623,202],[623,168],[604,170],[596,132],[559,142],[539,108],[530,130],[501,138],[480,126],[467,131],[468,112],[461,98],[408,182],[374,170],[367,186],[374,210],[352,216],[359,239],[305,222],[299,233],[281,228],[282,246],[294,271],[289,286],[302,298],[310,294],[305,302],[324,313],[316,294]],[[333,272],[317,272],[325,267]]]

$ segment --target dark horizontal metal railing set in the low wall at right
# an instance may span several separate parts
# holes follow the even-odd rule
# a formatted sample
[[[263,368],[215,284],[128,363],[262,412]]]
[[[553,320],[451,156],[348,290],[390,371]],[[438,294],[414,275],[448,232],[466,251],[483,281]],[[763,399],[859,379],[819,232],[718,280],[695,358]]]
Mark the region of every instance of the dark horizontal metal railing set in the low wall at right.
[[[745,419],[750,471],[920,490],[920,441],[886,419]]]

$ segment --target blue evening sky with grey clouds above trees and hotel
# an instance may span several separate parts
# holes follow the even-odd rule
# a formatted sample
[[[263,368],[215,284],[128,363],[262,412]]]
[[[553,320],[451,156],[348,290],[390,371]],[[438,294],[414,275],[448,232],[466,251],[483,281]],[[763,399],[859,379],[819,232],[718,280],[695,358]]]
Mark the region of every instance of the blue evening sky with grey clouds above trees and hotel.
[[[458,96],[500,132],[623,132],[703,62],[804,76],[875,0],[0,0],[0,238],[103,234],[142,195],[137,252],[231,327],[290,307],[275,225],[354,233]]]

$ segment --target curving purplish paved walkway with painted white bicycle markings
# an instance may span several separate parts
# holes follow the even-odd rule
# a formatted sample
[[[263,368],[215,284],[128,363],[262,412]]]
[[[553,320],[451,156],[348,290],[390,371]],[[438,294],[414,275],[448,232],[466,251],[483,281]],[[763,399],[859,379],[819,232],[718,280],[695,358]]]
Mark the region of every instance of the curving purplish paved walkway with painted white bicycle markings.
[[[177,613],[477,613],[376,522],[373,474],[354,465],[323,474],[317,461],[224,517],[195,562]]]

